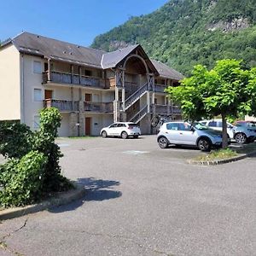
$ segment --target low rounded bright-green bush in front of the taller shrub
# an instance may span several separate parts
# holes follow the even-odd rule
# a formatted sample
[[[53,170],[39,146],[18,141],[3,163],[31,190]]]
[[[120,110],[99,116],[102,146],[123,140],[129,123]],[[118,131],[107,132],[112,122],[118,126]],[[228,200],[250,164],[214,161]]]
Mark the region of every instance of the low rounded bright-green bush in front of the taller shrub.
[[[46,162],[44,154],[31,151],[20,160],[11,159],[0,166],[2,207],[24,206],[42,197]]]

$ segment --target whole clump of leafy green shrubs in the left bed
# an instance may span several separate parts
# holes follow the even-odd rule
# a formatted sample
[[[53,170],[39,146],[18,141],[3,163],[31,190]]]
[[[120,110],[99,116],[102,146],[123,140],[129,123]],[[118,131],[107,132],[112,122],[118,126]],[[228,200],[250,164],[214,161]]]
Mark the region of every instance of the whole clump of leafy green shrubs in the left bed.
[[[40,128],[35,132],[18,123],[1,126],[0,153],[13,158],[0,166],[0,205],[22,206],[50,192],[73,188],[73,183],[61,175],[62,154],[55,144],[60,126],[61,114],[56,108],[40,112]]]

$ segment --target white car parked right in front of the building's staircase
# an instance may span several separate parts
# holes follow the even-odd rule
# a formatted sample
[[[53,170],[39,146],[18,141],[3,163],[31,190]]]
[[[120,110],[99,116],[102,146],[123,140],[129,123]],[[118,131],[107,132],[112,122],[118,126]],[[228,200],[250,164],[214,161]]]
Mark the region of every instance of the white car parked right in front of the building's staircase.
[[[102,137],[139,137],[141,129],[137,124],[131,122],[117,122],[102,128]]]

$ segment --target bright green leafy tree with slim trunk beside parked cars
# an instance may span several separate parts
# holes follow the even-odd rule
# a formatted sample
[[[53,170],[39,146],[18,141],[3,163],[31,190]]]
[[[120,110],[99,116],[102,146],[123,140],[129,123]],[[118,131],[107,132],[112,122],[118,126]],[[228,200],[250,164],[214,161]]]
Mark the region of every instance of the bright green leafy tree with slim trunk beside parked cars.
[[[180,104],[183,116],[192,121],[221,115],[223,148],[228,145],[227,118],[256,113],[256,68],[247,69],[242,61],[217,61],[215,67],[197,65],[192,76],[166,92]]]

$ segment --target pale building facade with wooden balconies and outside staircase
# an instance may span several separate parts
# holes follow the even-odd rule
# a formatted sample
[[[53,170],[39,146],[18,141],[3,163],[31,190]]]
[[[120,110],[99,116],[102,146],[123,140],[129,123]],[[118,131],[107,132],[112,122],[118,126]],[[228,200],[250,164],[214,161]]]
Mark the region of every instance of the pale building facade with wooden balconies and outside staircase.
[[[172,81],[159,77],[154,84],[152,66],[137,50],[125,58],[125,67],[104,70],[21,53],[7,44],[0,48],[0,120],[20,119],[37,130],[40,110],[55,107],[61,112],[61,137],[98,136],[102,127],[117,120],[139,122],[142,132],[150,133],[150,119],[159,113],[157,109],[168,112],[163,86]],[[136,95],[143,86],[147,91]],[[154,91],[156,86],[160,91]]]

